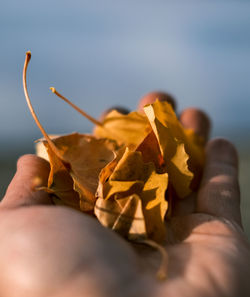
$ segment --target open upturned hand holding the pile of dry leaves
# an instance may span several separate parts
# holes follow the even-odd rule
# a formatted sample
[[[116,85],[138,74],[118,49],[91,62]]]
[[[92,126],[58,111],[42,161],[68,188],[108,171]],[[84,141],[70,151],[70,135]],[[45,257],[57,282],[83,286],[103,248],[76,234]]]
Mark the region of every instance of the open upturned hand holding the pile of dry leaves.
[[[207,137],[203,113],[188,109],[180,120]],[[207,144],[197,195],[178,201],[166,222],[164,281],[156,279],[157,250],[132,245],[35,191],[35,178],[46,185],[48,174],[45,160],[21,157],[0,204],[0,296],[249,296],[250,247],[242,231],[237,153],[228,141]]]

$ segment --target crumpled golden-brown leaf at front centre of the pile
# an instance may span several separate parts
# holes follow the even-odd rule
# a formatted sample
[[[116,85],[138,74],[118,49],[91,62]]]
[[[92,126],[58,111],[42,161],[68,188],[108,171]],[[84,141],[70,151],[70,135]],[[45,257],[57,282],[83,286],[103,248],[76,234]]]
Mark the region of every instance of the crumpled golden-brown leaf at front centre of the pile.
[[[114,168],[114,171],[103,184],[103,192],[98,193],[100,195],[98,205],[102,205],[101,223],[104,226],[112,225],[114,209],[118,207],[117,202],[120,199],[131,196],[135,197],[136,195],[136,197],[139,197],[142,205],[147,237],[157,242],[162,242],[166,235],[164,217],[167,211],[167,202],[165,200],[167,186],[167,173],[156,173],[155,166],[152,162],[143,162],[141,152],[130,151],[127,148]],[[126,204],[126,211],[129,211],[133,205]],[[107,213],[104,215],[103,212],[105,210]],[[132,213],[133,211],[131,210],[130,214]],[[100,213],[98,211],[96,215],[99,219]],[[131,221],[131,217],[129,220]],[[133,221],[133,223],[131,222],[131,224],[134,226],[133,230],[137,229],[137,220]],[[132,232],[130,229],[127,231]]]

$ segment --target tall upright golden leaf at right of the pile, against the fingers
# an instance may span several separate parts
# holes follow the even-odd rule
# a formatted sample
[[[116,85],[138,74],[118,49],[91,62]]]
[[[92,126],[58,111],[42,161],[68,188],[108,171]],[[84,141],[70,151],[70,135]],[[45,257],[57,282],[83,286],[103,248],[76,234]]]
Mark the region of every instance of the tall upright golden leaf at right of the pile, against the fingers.
[[[187,136],[168,102],[157,100],[145,106],[144,111],[159,142],[170,182],[180,198],[186,197],[191,193],[195,174],[192,169],[201,167],[199,158],[203,155],[203,147],[194,149],[190,136]]]

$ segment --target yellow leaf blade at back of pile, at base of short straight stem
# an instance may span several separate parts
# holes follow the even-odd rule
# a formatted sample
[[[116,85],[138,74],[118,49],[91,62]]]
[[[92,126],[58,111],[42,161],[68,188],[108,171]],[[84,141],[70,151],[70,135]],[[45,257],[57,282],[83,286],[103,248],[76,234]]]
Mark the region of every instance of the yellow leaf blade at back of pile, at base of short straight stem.
[[[118,144],[135,149],[150,131],[151,127],[145,115],[138,112],[124,115],[113,110],[105,117],[102,126],[96,126],[94,135],[98,138],[114,139]]]

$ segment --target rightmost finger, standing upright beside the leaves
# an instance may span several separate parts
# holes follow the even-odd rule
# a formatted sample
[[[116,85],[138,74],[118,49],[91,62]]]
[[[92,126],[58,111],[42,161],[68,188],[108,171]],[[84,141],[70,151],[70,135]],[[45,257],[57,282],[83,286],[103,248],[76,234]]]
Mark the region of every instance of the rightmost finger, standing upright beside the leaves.
[[[197,212],[225,218],[241,225],[238,157],[224,139],[207,145],[206,166],[197,197]]]

